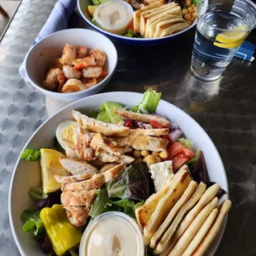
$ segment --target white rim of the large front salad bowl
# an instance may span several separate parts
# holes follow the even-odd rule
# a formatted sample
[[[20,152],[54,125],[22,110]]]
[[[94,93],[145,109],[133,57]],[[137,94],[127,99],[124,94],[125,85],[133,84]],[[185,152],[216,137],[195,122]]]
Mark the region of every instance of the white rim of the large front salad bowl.
[[[139,92],[105,92],[105,93],[100,93],[100,94],[96,94],[96,95],[92,95],[92,96],[89,96],[89,97],[97,97],[97,96],[105,96],[106,99],[107,99],[107,96],[110,95],[110,94],[120,94],[120,97],[121,95],[123,94],[126,94],[126,97],[130,96],[132,97],[132,95],[135,95],[135,94],[139,94],[141,97],[143,97],[143,93],[139,93]],[[86,99],[88,99],[89,97],[86,97]],[[51,119],[54,119],[55,116],[59,115],[59,113],[61,111],[64,111],[65,109],[69,108],[69,107],[72,107],[74,105],[76,105],[78,102],[82,102],[84,101],[85,98],[82,98],[76,102],[73,102],[71,104],[69,104],[68,106],[66,107],[63,107],[62,109],[60,109],[59,111],[57,111],[55,113],[55,115],[53,116],[50,116],[46,121],[44,121],[37,129],[36,131],[33,133],[33,135],[31,135],[30,139],[26,142],[26,145],[24,146],[24,148],[21,150],[21,152],[24,151],[24,149],[26,149],[26,146],[31,142],[31,140],[33,139],[33,137],[36,135],[36,133],[38,132],[38,130],[41,129],[42,126],[45,125],[46,122],[50,121]],[[201,126],[197,123],[197,121],[195,121],[191,116],[189,116],[185,111],[183,111],[182,109],[180,109],[179,107],[176,107],[175,105],[173,105],[172,103],[170,102],[166,102],[164,100],[161,100],[160,102],[163,102],[164,104],[166,105],[172,105],[173,108],[176,108],[178,111],[181,111],[183,112],[183,114],[185,116],[187,116],[187,118],[195,125],[197,126],[197,129],[200,130],[203,134],[205,134],[208,139],[209,139],[209,143],[211,144],[211,146],[216,150],[216,157],[220,160],[220,167],[224,170],[224,173],[223,173],[223,178],[225,179],[224,183],[225,183],[225,187],[226,187],[226,197],[227,199],[229,199],[229,185],[228,185],[228,181],[227,181],[227,177],[226,177],[226,173],[225,173],[225,167],[224,167],[224,164],[220,158],[220,154],[219,154],[219,151],[216,149],[216,145],[214,145],[214,143],[212,142],[211,138],[209,135],[207,135],[206,131],[203,130],[201,128]],[[14,172],[12,173],[12,180],[11,180],[11,183],[10,183],[10,190],[9,190],[9,195],[8,195],[8,215],[9,215],[9,220],[10,220],[10,224],[11,224],[11,230],[12,230],[12,235],[14,237],[14,240],[17,244],[17,248],[19,249],[21,255],[24,255],[24,256],[27,256],[26,254],[24,254],[24,251],[23,249],[21,248],[21,244],[17,238],[17,234],[15,232],[15,229],[14,229],[14,225],[13,225],[13,221],[12,221],[12,201],[11,201],[11,198],[12,198],[12,186],[13,186],[13,181],[14,181],[14,178],[15,178],[15,174],[17,172],[17,166],[20,162],[20,159],[21,159],[21,156],[19,156],[19,158],[17,159],[17,163],[15,164],[15,168],[14,168]],[[220,244],[220,240],[222,239],[222,236],[223,236],[223,233],[225,231],[225,225],[226,225],[226,220],[227,220],[227,217],[225,218],[225,221],[223,223],[223,230],[220,230],[220,236],[218,237],[218,242],[216,243],[216,246],[214,247],[213,249],[213,252],[215,253],[216,252],[216,249],[218,248],[219,244]]]

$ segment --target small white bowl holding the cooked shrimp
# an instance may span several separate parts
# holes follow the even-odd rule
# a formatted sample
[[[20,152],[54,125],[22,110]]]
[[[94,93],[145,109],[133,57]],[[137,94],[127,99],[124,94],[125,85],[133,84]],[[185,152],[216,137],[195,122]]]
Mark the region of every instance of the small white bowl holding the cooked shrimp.
[[[102,50],[107,55],[105,69],[107,70],[107,78],[92,88],[88,88],[82,92],[61,93],[51,92],[44,88],[43,80],[45,71],[50,62],[62,55],[64,45],[70,43],[72,45],[87,46],[89,50]],[[58,31],[50,36],[40,40],[26,56],[26,76],[29,82],[40,92],[50,97],[55,97],[64,101],[76,101],[83,97],[100,92],[110,81],[112,74],[116,69],[117,52],[116,47],[106,36],[95,31],[86,29],[69,29]]]

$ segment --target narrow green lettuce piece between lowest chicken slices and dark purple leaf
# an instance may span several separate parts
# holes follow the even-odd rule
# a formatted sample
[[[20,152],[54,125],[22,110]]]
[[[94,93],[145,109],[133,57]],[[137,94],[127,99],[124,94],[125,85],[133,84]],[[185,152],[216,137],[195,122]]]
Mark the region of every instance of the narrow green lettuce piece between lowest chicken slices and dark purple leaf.
[[[107,202],[109,198],[107,196],[107,189],[106,187],[102,187],[97,191],[97,197],[93,201],[91,210],[89,211],[89,216],[95,218],[102,214],[103,209],[107,206]]]

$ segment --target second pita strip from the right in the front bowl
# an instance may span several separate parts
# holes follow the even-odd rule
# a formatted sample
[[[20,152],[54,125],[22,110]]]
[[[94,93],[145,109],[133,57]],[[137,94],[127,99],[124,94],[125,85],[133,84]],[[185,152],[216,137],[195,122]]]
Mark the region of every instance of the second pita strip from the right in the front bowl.
[[[183,251],[182,256],[191,256],[197,249],[198,245],[201,244],[202,239],[205,238],[206,233],[210,230],[212,223],[216,220],[218,209],[211,211],[206,221],[201,225],[201,228],[197,231],[197,234],[193,237],[191,242],[187,245],[187,248]]]

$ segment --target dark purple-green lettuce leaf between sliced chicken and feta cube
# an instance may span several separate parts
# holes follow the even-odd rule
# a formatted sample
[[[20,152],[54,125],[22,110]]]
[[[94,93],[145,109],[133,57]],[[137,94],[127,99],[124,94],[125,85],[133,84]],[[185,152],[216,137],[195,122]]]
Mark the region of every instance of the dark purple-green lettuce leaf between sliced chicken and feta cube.
[[[150,174],[145,162],[131,164],[107,183],[108,197],[120,197],[135,201],[145,200],[150,196]]]

